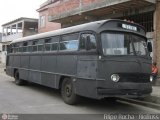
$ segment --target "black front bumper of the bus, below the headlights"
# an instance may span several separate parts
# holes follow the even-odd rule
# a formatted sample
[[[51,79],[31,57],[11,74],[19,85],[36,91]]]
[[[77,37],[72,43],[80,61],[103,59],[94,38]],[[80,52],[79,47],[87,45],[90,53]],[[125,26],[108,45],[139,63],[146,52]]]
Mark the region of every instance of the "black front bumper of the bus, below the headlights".
[[[143,84],[143,83],[142,83]],[[115,88],[97,88],[97,93],[100,98],[104,97],[128,97],[128,98],[138,98],[149,96],[152,92],[152,86],[143,84],[141,87],[139,85],[130,84],[128,87],[124,85],[116,86]]]

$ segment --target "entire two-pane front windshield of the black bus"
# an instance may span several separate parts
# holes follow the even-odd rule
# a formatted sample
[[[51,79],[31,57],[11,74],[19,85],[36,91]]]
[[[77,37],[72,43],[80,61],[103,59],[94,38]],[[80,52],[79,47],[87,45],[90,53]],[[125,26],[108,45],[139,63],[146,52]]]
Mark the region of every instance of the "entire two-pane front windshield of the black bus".
[[[104,55],[147,55],[145,38],[126,33],[101,33]]]

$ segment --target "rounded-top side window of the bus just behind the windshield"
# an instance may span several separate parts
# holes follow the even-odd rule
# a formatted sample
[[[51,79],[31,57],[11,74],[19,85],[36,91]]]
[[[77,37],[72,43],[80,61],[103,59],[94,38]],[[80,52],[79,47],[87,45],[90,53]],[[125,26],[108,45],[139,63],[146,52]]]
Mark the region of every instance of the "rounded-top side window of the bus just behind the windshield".
[[[81,35],[81,38],[80,38],[80,43],[79,43],[80,50],[86,49],[87,37],[90,38],[90,50],[96,49],[96,37],[93,34],[84,33]]]

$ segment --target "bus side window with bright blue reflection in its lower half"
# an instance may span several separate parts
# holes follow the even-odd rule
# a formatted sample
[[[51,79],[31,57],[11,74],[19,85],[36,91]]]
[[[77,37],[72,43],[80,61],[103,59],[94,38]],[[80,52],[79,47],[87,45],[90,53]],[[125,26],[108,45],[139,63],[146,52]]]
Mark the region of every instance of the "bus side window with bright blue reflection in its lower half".
[[[78,36],[77,33],[62,36],[60,50],[78,50]]]

